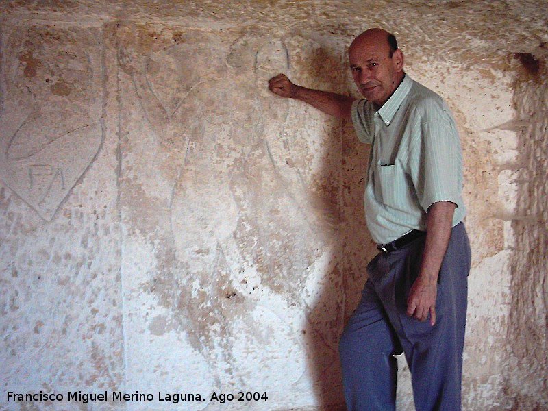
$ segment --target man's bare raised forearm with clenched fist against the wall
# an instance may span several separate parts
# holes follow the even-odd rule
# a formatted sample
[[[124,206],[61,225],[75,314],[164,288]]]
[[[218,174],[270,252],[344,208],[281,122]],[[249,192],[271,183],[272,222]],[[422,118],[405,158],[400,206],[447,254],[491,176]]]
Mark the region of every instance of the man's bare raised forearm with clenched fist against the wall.
[[[353,97],[297,86],[290,82],[290,79],[284,74],[279,74],[269,80],[269,90],[280,97],[304,101],[339,119],[351,120],[352,118],[352,103],[356,100]]]

